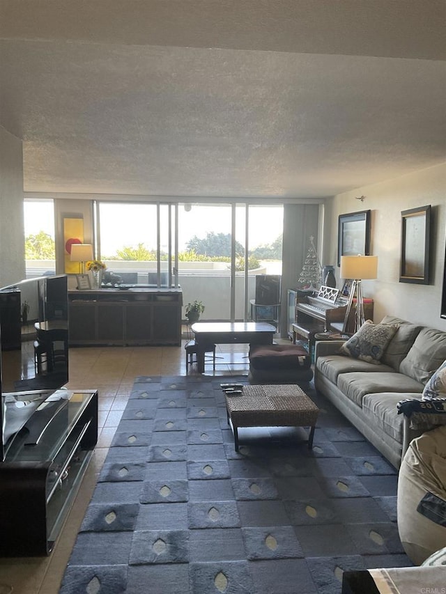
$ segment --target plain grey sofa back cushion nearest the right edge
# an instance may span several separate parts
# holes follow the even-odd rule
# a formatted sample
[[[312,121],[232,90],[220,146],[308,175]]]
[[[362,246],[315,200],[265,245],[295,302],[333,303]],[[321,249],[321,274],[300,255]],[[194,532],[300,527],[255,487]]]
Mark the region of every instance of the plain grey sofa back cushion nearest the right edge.
[[[446,360],[446,332],[422,328],[399,371],[425,385]]]

